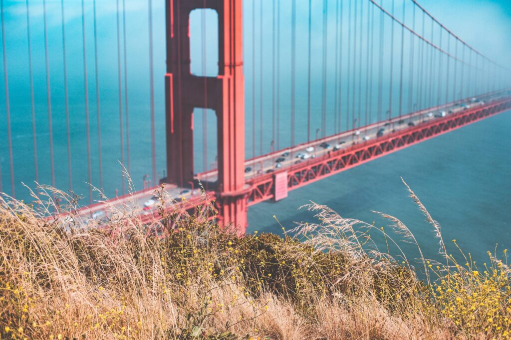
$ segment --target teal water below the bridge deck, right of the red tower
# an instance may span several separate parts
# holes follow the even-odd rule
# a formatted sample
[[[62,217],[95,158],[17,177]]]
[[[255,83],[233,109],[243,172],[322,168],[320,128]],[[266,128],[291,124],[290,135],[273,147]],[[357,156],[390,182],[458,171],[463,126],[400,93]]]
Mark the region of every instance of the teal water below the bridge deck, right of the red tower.
[[[383,221],[371,211],[397,217],[425,255],[436,258],[438,240],[408,197],[403,177],[442,226],[448,250],[455,252],[456,239],[483,262],[496,244],[500,250],[511,246],[509,130],[511,112],[502,113],[292,191],[280,202],[252,206],[247,232],[281,233],[273,215],[287,229],[295,221],[312,222],[312,213],[297,208],[314,201],[346,218],[377,221],[377,226]]]

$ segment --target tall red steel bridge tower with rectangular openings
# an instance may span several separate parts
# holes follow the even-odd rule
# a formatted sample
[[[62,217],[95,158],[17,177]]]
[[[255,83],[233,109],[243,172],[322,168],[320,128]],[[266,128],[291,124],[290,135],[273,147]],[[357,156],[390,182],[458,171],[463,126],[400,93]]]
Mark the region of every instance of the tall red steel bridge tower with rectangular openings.
[[[190,12],[218,14],[218,76],[190,71]],[[242,0],[166,0],[167,181],[183,187],[193,180],[193,109],[217,116],[219,222],[247,224]],[[207,91],[205,91],[205,88]]]

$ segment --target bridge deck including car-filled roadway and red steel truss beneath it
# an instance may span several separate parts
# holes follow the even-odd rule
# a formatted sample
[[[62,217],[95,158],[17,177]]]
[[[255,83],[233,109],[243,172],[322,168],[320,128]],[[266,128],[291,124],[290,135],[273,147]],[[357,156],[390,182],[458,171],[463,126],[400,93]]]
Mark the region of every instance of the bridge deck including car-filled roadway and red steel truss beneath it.
[[[248,204],[274,199],[275,177],[278,174],[285,173],[287,188],[284,190],[290,191],[509,109],[511,91],[490,93],[479,97],[477,102],[469,98],[445,104],[247,160],[245,165],[247,169],[250,168],[245,175],[250,188]],[[445,112],[445,116],[442,112]],[[280,166],[277,167],[277,164]],[[205,194],[202,189],[163,185],[162,189],[167,193],[166,208],[172,209],[179,216],[198,206],[203,207],[206,201],[215,199],[216,178],[216,170],[197,175],[198,180],[207,184]],[[98,202],[82,208],[78,215],[82,218],[104,216],[111,207],[116,207],[133,211],[146,221],[158,215],[157,202],[150,201],[154,199],[158,188]]]

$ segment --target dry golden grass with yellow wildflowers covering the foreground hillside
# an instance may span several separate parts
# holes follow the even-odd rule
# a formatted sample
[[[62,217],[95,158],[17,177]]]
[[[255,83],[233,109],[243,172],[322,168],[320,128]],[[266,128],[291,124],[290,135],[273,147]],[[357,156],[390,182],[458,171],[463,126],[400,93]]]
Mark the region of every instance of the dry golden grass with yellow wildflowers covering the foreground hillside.
[[[505,251],[503,260],[489,253],[484,268],[470,255],[459,265],[411,190],[445,258],[421,259],[424,281],[404,253],[398,261],[374,244],[371,233],[380,233],[400,249],[399,234],[421,252],[409,229],[385,214],[384,229],[311,203],[318,223],[300,223],[284,238],[240,238],[198,214],[157,238],[147,234],[159,222],[142,225],[127,207],[110,207],[100,228],[97,221],[64,223],[74,198],[41,191],[33,206],[0,203],[1,338],[509,336]],[[54,196],[65,202],[61,215],[44,219],[57,208]]]

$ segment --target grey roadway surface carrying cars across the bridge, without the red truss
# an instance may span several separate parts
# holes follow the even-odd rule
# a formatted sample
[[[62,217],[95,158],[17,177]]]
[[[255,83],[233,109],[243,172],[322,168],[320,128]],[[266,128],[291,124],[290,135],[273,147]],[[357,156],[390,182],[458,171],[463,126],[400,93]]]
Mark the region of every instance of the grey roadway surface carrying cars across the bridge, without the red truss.
[[[407,129],[414,129],[426,125],[435,120],[445,119],[446,117],[460,114],[463,111],[475,109],[476,107],[487,106],[492,102],[511,97],[511,90],[492,92],[476,98],[467,98],[457,102],[451,102],[442,106],[413,112],[401,117],[393,117],[373,123],[356,129],[347,130],[337,135],[324,137],[296,145],[295,147],[285,148],[266,155],[249,159],[245,162],[245,178],[249,185],[257,185],[257,179],[264,177],[273,177],[271,174],[286,171],[290,168],[299,167],[300,163],[312,163],[315,159],[326,158],[333,151],[352,149],[356,146],[362,146],[373,142],[377,137],[389,134],[405,132]],[[445,112],[443,117],[442,112]],[[380,132],[380,136],[378,133]],[[327,145],[328,144],[328,145]],[[277,160],[279,162],[277,162]],[[280,164],[280,165],[277,165]],[[217,170],[211,170],[197,174],[196,178],[201,181],[206,188],[208,199],[215,198],[214,186],[217,180]],[[123,211],[133,212],[141,219],[147,220],[156,214],[157,199],[155,197],[156,189],[153,187],[147,190],[137,191],[131,194],[113,198],[105,202],[81,208],[75,222],[86,221],[91,217],[94,219],[103,219],[107,217],[112,208],[119,208]],[[167,193],[165,204],[170,207],[181,206],[182,210],[202,204],[204,199],[202,190],[197,188],[179,188],[175,185],[164,184],[163,190]],[[249,205],[255,204],[261,200],[268,199],[261,193],[259,200],[252,197]],[[268,196],[268,195],[266,195]],[[69,220],[68,220],[69,221]]]

